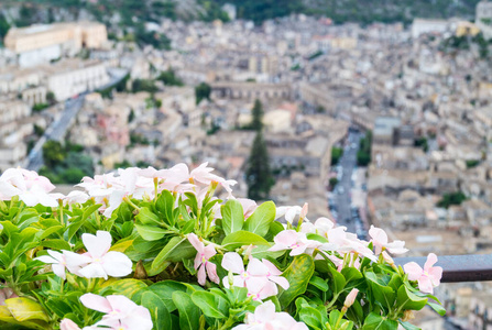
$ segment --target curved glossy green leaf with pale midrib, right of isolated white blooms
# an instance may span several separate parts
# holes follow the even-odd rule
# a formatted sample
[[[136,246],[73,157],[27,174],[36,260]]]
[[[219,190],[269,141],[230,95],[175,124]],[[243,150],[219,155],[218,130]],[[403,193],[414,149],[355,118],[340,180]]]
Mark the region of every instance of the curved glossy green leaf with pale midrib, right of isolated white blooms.
[[[161,273],[164,262],[179,262],[196,255],[196,250],[186,238],[174,237],[152,262],[150,276]]]

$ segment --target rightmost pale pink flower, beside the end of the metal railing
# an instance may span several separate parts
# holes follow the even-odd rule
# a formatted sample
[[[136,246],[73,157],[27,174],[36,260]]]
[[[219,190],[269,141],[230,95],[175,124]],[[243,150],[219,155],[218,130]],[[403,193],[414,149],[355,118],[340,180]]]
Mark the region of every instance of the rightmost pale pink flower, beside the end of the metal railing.
[[[418,288],[423,293],[433,294],[442,277],[442,267],[433,267],[437,263],[437,256],[429,253],[424,270],[415,262],[407,263],[403,266],[405,273],[408,274],[409,280],[417,280]]]

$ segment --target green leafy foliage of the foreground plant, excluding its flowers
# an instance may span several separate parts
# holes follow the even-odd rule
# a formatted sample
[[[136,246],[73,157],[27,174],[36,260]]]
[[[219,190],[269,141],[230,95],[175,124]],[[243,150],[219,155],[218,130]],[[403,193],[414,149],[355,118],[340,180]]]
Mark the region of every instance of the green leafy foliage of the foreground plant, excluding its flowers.
[[[62,148],[69,158],[79,146]],[[263,301],[271,301],[277,312],[289,314],[309,329],[397,329],[398,323],[415,329],[402,319],[407,311],[427,305],[444,315],[437,298],[418,292],[417,282],[408,280],[402,267],[387,264],[382,256],[370,260],[319,246],[298,255],[291,255],[291,248],[269,251],[284,231],[274,220],[277,209],[272,201],[244,216],[245,209],[237,199],[223,202],[214,196],[217,183],[200,188],[206,193],[158,189],[156,196],[141,199],[129,195],[110,217],[101,213],[101,205],[94,199],[55,208],[28,207],[18,197],[0,201],[0,282],[19,295],[7,297],[0,306],[0,328],[58,329],[62,319],[79,327],[94,324],[101,312],[80,302],[84,294],[92,293],[122,295],[145,307],[153,329],[232,329],[262,302],[251,293],[256,287],[227,288],[223,280],[248,278],[248,272],[266,261],[280,270],[277,280],[286,279],[288,287],[276,287],[278,293]],[[221,206],[221,217],[216,217],[217,206]],[[286,229],[302,230],[291,223]],[[84,253],[87,246],[81,235],[99,230],[111,234],[111,252],[122,252],[135,262],[133,274],[88,279],[68,270],[62,279],[36,260],[46,255],[46,250]],[[329,243],[324,233],[309,233],[306,239]],[[372,243],[361,243],[373,250]],[[218,283],[209,277],[197,285],[197,244],[214,246],[217,252],[206,263],[216,267]],[[247,272],[228,274],[222,262],[227,253],[238,253],[240,264],[236,266]],[[337,258],[345,258],[340,268],[334,264]],[[273,279],[272,284],[276,286]],[[347,306],[353,288],[359,290],[357,299]]]

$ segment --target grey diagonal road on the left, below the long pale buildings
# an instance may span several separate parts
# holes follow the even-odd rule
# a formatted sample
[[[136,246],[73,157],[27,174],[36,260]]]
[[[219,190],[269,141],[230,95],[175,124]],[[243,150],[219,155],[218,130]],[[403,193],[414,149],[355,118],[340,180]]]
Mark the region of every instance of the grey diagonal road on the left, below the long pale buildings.
[[[110,73],[110,81],[98,89],[106,89],[118,84],[127,76],[127,74],[128,72],[125,69],[114,69]],[[44,143],[48,140],[62,142],[65,139],[65,135],[68,129],[74,123],[78,111],[84,106],[84,99],[87,94],[89,94],[89,91],[86,91],[78,97],[74,97],[65,101],[65,109],[63,110],[61,116],[46,129],[43,136],[41,136],[41,139],[31,150],[22,167],[36,172],[40,170],[40,168],[43,166]]]

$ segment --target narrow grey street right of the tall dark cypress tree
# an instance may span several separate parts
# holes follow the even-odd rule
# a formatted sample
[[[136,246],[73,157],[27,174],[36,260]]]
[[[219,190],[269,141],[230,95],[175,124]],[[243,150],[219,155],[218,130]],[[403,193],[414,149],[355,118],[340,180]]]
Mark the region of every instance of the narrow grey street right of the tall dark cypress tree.
[[[361,133],[349,133],[348,145],[345,146],[343,155],[337,165],[343,168],[343,174],[334,190],[334,199],[338,213],[337,223],[346,226],[349,232],[358,233],[360,238],[364,239],[364,227],[360,220],[352,219],[351,210],[352,173],[357,166],[357,152],[359,151],[359,140],[361,138]],[[351,145],[354,145],[356,147],[351,147]]]

